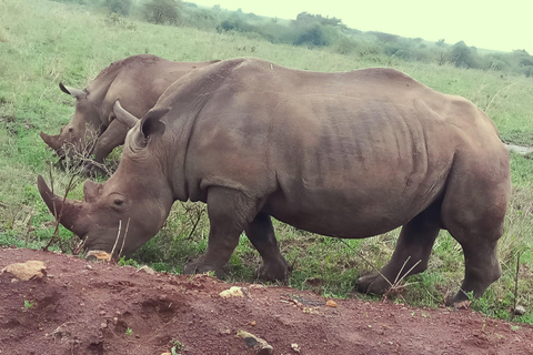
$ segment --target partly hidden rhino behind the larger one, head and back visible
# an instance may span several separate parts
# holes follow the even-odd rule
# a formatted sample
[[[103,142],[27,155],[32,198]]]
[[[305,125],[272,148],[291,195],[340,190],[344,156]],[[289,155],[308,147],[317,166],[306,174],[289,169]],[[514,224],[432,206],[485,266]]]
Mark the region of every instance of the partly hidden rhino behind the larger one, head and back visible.
[[[125,125],[113,121],[114,101],[120,99],[128,111],[142,116],[172,82],[214,62],[174,62],[140,54],[111,63],[83,90],[60,83],[61,91],[77,100],[74,115],[58,135],[41,132],[41,138],[61,159],[86,160],[84,171],[90,172],[124,142],[128,133]],[[87,160],[91,154],[95,165]]]

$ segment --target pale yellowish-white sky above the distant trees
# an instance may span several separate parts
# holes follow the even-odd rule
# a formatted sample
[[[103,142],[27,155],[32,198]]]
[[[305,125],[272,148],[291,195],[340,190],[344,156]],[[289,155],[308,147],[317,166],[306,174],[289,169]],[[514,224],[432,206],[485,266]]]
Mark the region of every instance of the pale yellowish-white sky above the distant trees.
[[[349,28],[380,31],[428,41],[533,55],[531,0],[184,0],[199,6],[220,4],[259,16],[293,20],[306,11],[341,19]]]

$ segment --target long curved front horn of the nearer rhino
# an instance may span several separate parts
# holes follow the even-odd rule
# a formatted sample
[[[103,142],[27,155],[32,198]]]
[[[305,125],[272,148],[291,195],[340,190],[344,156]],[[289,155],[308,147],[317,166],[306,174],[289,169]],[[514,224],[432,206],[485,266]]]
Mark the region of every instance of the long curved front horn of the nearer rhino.
[[[87,234],[86,229],[80,223],[80,213],[84,207],[83,202],[56,195],[41,175],[37,178],[37,186],[50,212],[66,229],[79,236]]]

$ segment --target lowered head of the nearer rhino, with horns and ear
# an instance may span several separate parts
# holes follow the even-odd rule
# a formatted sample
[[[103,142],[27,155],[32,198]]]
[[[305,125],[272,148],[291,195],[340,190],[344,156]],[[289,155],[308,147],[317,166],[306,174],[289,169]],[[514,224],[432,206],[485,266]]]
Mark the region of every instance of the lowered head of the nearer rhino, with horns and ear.
[[[140,121],[123,109],[122,113],[135,126],[128,133],[120,165],[104,183],[87,180],[83,201],[56,195],[38,176],[39,192],[60,223],[84,241],[86,250],[114,251],[113,256],[131,254],[154,236],[174,201],[163,159],[153,154],[158,146],[151,146],[164,124],[159,118]],[[139,150],[142,153],[135,155]]]

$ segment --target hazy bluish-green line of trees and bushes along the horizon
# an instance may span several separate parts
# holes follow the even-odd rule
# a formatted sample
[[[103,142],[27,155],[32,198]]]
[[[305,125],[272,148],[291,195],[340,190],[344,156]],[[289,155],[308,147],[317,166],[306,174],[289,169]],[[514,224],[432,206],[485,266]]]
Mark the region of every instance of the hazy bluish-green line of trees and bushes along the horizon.
[[[326,48],[344,55],[385,55],[404,61],[451,63],[457,68],[495,70],[533,77],[533,57],[525,50],[480,53],[463,41],[444,39],[428,42],[422,38],[348,28],[341,19],[301,12],[294,20],[264,18],[254,13],[228,11],[214,6],[198,7],[181,0],[56,0],[95,6],[120,17],[133,17],[158,24],[192,27],[207,31],[240,32],[272,43]]]

